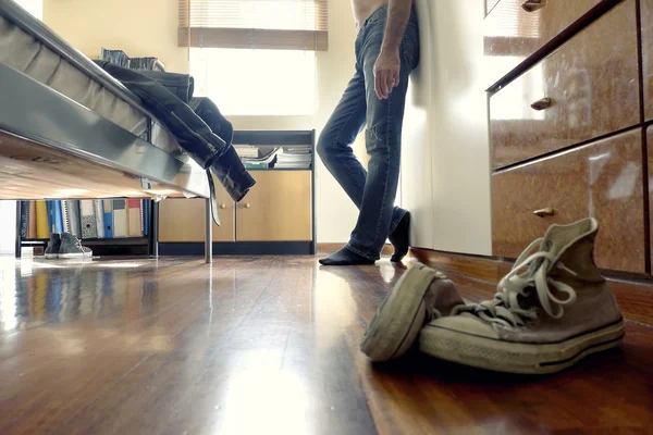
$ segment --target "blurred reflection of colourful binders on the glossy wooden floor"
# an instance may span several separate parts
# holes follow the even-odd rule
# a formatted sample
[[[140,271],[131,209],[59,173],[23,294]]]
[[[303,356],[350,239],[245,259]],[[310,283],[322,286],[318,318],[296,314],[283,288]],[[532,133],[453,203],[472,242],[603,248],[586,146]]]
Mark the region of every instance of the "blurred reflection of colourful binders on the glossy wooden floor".
[[[127,315],[156,312],[158,282],[144,262],[0,262],[0,331],[42,323],[98,319],[124,309]],[[137,271],[137,272],[136,272]]]

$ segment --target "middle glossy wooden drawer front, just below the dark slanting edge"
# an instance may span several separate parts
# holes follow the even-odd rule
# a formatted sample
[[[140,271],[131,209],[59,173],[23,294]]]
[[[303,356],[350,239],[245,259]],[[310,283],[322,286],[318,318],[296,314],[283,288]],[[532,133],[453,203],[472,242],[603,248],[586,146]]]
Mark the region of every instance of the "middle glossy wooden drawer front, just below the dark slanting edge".
[[[494,169],[639,123],[636,23],[620,3],[490,98]]]

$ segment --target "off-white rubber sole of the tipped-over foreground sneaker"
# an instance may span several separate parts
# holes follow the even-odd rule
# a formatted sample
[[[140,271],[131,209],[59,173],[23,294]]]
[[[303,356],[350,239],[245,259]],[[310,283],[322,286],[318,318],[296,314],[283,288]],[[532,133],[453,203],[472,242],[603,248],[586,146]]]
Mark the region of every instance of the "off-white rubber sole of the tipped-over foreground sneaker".
[[[421,263],[412,264],[402,275],[360,343],[360,350],[372,361],[389,361],[408,351],[424,324],[424,296],[436,278],[435,271]]]

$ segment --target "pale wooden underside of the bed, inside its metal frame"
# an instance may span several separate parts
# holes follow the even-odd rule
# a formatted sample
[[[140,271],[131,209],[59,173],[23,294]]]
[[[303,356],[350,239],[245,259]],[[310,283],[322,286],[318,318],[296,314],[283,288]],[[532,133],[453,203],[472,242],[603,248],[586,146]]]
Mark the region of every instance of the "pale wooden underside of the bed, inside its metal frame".
[[[144,191],[138,177],[2,132],[0,185],[0,199],[183,197],[164,185]]]

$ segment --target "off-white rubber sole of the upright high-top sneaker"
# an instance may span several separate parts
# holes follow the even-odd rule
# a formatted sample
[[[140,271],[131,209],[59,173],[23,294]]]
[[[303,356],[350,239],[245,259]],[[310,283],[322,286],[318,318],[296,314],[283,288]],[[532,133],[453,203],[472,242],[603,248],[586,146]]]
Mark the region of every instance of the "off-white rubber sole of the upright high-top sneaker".
[[[546,374],[565,370],[589,355],[617,347],[623,338],[623,321],[544,345],[502,341],[428,325],[420,334],[419,348],[432,357],[478,369]]]

